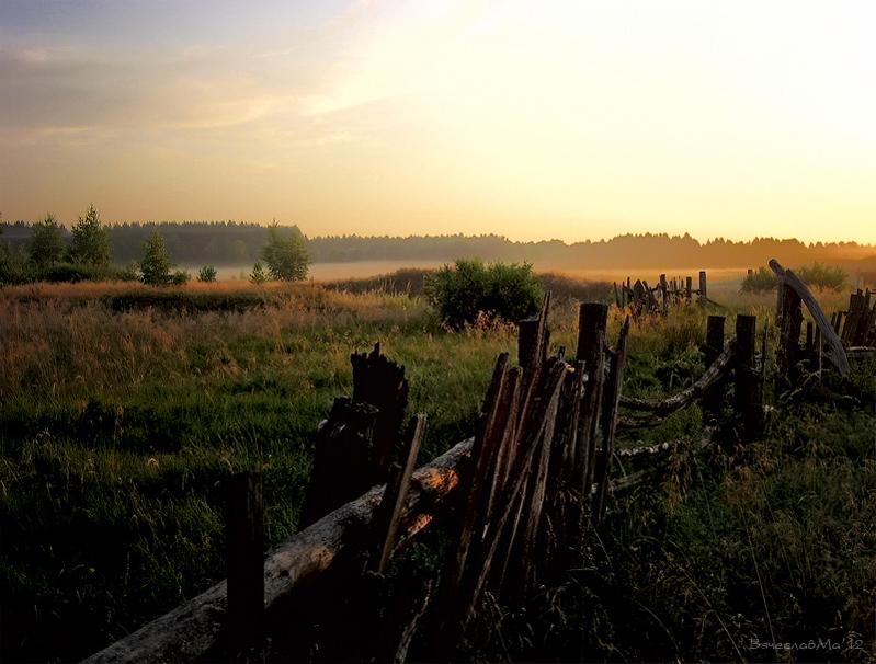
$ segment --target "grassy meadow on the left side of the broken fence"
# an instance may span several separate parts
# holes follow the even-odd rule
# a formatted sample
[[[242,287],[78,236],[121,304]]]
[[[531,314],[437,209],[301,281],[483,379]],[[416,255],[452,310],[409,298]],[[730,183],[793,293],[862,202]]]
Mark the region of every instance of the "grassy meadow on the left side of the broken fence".
[[[407,366],[425,459],[470,435],[514,340],[450,334],[407,297],[306,284],[201,313],[114,312],[99,289],[66,288],[0,294],[7,661],[82,657],[220,580],[234,471],[264,471],[270,543],[293,535],[317,424],[352,392],[351,353],[379,340]],[[137,294],[152,297],[113,293]]]

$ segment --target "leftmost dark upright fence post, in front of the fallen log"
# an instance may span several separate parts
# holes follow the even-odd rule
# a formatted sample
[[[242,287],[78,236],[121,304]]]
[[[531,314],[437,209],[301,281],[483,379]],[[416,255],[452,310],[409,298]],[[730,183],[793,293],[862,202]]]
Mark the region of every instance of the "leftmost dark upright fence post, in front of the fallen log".
[[[228,604],[225,639],[235,657],[255,643],[264,617],[264,501],[261,472],[239,472],[226,485]]]

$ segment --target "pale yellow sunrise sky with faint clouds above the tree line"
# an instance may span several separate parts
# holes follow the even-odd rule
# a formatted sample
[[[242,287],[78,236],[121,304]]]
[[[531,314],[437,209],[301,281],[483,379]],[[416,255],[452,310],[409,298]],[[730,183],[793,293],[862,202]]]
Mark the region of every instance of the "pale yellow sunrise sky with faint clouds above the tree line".
[[[874,25],[869,0],[0,0],[0,211],[876,243]]]

